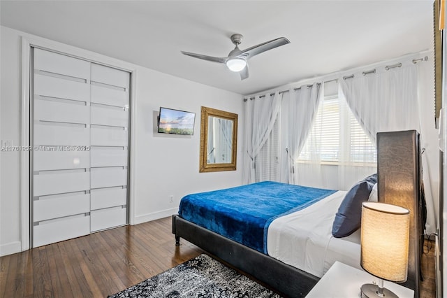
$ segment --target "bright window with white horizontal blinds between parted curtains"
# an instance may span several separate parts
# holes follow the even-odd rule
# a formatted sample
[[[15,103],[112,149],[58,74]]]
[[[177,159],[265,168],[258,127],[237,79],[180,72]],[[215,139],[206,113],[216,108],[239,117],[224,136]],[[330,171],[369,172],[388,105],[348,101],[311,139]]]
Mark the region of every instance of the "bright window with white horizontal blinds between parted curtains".
[[[301,162],[312,159],[330,164],[376,162],[375,146],[337,94],[325,95],[298,157]]]

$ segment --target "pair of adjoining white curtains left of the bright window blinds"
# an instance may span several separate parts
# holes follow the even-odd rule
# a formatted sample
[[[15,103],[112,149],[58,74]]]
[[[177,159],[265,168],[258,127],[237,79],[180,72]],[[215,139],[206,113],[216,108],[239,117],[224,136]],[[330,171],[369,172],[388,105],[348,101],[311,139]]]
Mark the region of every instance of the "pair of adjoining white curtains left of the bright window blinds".
[[[309,164],[296,167],[320,100],[321,84],[291,88],[247,100],[244,182],[277,180],[298,184],[300,173],[309,176]],[[312,165],[312,168],[315,168]]]

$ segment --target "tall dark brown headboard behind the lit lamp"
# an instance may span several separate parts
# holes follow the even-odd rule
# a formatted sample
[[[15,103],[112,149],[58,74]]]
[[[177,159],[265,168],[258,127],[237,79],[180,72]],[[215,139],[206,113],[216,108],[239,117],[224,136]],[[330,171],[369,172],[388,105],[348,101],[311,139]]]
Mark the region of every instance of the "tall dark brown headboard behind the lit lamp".
[[[410,211],[408,279],[402,285],[419,297],[420,257],[423,252],[420,144],[416,130],[377,134],[379,201]]]

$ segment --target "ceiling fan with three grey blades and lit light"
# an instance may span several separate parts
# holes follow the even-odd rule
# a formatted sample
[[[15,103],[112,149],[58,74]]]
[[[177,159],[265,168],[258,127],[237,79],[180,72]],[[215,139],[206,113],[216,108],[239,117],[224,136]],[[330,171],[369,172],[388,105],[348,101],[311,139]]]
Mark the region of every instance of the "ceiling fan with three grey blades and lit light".
[[[228,57],[212,57],[184,51],[182,51],[182,53],[184,55],[188,55],[198,59],[203,59],[211,62],[225,63],[228,69],[230,69],[230,71],[239,72],[240,79],[244,80],[249,77],[249,66],[247,64],[248,59],[258,54],[261,54],[262,52],[265,52],[267,50],[272,50],[281,45],[286,45],[287,43],[290,43],[290,41],[288,41],[287,38],[280,37],[273,39],[272,41],[267,41],[265,43],[254,45],[253,47],[247,48],[245,50],[240,50],[238,45],[240,45],[240,43],[242,42],[243,37],[244,36],[242,36],[242,34],[233,34],[232,36],[230,36],[231,42],[234,43],[236,47],[228,54]]]

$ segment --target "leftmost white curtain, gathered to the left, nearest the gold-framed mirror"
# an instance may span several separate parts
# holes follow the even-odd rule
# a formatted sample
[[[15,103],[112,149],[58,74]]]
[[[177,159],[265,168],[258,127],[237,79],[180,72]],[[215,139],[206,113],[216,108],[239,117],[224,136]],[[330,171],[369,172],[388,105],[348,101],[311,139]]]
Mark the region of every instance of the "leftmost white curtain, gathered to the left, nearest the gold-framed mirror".
[[[282,95],[256,96],[248,99],[245,106],[244,133],[244,183],[256,182],[256,157],[268,140],[281,106]]]

